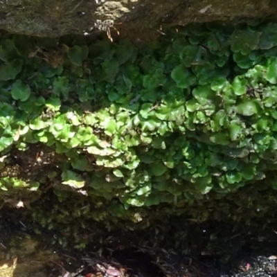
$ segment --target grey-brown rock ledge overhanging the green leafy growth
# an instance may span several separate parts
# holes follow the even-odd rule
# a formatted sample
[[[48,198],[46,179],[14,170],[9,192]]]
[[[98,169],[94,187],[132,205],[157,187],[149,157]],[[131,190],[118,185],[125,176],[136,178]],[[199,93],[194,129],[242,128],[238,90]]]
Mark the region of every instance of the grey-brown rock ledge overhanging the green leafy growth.
[[[276,0],[1,0],[0,28],[40,37],[97,35],[112,20],[120,37],[153,38],[162,28],[215,20],[276,19]],[[98,25],[98,26],[95,26]],[[109,26],[110,21],[109,21]],[[157,32],[157,29],[159,30]],[[116,35],[111,28],[112,35]]]

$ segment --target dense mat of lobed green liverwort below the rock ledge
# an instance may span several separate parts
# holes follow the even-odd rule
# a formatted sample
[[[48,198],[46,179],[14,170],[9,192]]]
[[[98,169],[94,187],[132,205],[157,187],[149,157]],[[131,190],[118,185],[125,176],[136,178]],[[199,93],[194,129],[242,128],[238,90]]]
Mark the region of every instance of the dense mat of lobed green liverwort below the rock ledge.
[[[1,155],[42,143],[65,157],[60,190],[125,207],[254,184],[276,170],[276,26],[190,25],[141,49],[2,37]],[[35,190],[52,176],[0,183]]]

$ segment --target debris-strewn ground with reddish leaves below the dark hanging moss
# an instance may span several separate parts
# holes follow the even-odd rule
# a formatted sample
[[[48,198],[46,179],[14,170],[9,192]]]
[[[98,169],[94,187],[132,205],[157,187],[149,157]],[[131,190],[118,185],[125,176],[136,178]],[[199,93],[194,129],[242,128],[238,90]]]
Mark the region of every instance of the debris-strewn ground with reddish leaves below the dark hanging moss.
[[[152,253],[152,255],[149,254]],[[69,272],[62,265],[55,265],[48,271],[51,277],[269,277],[277,276],[277,256],[245,256],[238,265],[229,267],[220,265],[213,256],[203,255],[197,258],[183,257],[183,263],[176,265],[175,253],[159,249],[121,249],[109,258],[99,253],[87,253],[84,264],[75,272]],[[153,255],[154,254],[154,255]],[[179,257],[180,258],[180,257]],[[164,260],[162,260],[164,259]],[[171,263],[168,263],[172,260]]]

